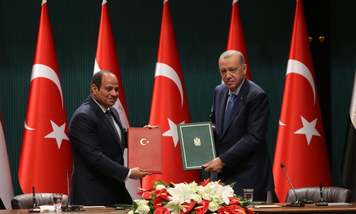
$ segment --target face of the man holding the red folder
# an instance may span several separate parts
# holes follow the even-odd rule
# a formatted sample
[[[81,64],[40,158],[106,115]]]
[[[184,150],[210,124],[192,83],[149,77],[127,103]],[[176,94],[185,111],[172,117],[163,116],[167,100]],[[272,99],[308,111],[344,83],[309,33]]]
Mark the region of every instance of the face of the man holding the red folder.
[[[119,83],[117,82],[117,78],[111,73],[105,73],[103,75],[100,90],[96,85],[91,85],[93,98],[105,108],[114,106],[117,96],[119,96],[117,92],[118,89]]]

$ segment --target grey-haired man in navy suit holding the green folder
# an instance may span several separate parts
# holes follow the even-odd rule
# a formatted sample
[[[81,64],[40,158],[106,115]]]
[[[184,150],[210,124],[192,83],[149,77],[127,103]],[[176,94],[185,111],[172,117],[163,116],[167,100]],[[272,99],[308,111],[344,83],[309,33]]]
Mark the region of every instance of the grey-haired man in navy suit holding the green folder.
[[[210,115],[218,157],[203,167],[218,173],[221,182],[236,182],[236,195],[242,196],[242,189],[254,189],[253,200],[266,201],[267,192],[274,189],[266,142],[268,97],[245,77],[246,68],[239,51],[226,51],[219,58],[225,84],[215,88]]]

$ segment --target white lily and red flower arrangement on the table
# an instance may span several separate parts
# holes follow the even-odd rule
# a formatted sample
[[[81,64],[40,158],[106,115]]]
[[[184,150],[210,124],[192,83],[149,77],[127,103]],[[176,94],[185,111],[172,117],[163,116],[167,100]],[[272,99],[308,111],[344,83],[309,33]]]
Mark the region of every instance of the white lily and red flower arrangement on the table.
[[[133,200],[128,214],[252,214],[245,202],[234,194],[233,184],[210,182],[167,184],[155,181],[150,189],[140,189],[142,199]]]

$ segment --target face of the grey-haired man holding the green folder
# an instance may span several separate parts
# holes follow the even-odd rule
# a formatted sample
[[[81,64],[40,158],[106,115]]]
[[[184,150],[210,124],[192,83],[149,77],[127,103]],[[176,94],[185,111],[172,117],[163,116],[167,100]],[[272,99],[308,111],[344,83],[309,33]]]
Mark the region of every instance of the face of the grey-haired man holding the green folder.
[[[229,58],[219,59],[221,78],[225,85],[235,91],[244,81],[247,65],[241,65],[240,56],[233,55]]]

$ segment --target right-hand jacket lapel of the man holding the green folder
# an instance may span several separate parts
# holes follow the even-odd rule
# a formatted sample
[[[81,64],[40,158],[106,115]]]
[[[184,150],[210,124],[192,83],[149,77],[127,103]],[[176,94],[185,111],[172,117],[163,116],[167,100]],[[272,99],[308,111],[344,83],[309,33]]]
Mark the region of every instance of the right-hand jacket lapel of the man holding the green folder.
[[[229,128],[232,120],[236,117],[236,115],[239,113],[242,105],[244,104],[244,102],[246,101],[246,97],[248,95],[248,89],[250,87],[250,82],[248,81],[248,79],[245,77],[245,81],[244,84],[242,84],[241,89],[239,91],[239,94],[237,95],[237,97],[235,98],[235,103],[234,106],[232,107],[231,113],[229,118],[227,119],[227,123],[225,126],[225,129],[223,130],[223,134],[221,135],[221,137],[224,136],[227,128]],[[226,106],[226,101],[225,101],[225,106]],[[225,108],[224,108],[224,114],[225,114]],[[224,119],[224,114],[223,114],[223,119]]]

